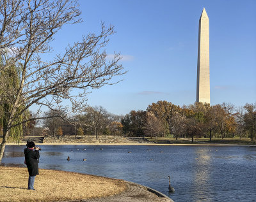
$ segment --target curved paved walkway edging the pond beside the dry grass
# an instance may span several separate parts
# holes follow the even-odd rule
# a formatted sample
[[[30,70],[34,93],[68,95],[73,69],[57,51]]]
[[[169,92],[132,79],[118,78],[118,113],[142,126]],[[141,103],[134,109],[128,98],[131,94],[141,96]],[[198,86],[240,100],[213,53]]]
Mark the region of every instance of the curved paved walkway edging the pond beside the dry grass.
[[[127,189],[114,196],[107,196],[96,199],[82,199],[66,202],[173,202],[164,194],[132,182],[126,182]]]

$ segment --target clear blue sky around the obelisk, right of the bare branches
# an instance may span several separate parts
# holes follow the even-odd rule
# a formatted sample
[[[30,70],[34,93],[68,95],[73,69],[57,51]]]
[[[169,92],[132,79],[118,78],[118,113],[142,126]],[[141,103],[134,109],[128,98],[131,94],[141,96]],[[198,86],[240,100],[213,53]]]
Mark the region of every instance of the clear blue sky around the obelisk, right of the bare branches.
[[[255,0],[80,0],[84,22],[64,27],[55,50],[82,34],[114,25],[107,53],[121,52],[129,71],[116,85],[92,91],[88,104],[115,114],[145,110],[159,100],[189,105],[196,100],[198,20],[210,25],[211,105],[256,101]],[[61,46],[63,45],[63,47]]]

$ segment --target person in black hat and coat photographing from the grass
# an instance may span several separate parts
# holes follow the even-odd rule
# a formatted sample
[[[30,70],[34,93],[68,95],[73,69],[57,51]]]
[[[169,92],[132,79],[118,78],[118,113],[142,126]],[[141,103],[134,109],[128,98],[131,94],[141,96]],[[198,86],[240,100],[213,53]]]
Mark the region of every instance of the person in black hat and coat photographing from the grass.
[[[33,141],[27,141],[27,148],[24,149],[25,163],[28,168],[29,178],[28,178],[28,189],[34,189],[35,177],[39,175],[38,173],[38,159],[39,147],[36,147]]]

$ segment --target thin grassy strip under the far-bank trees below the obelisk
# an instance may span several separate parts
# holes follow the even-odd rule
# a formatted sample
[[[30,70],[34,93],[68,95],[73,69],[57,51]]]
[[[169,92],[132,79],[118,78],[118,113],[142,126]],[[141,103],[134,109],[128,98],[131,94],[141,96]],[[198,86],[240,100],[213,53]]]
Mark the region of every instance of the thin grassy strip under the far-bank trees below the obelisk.
[[[166,143],[166,144],[192,144],[191,138],[150,138],[147,140],[152,143]],[[232,144],[232,145],[255,145],[254,141],[250,138],[194,138],[194,144]]]

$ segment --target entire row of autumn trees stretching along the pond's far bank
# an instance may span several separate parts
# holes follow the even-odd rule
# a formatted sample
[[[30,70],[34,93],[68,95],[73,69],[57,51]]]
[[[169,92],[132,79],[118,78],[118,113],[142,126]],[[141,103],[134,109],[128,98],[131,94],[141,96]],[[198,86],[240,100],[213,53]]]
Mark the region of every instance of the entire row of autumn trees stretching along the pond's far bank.
[[[24,135],[49,135],[54,138],[74,135],[124,135],[174,138],[256,138],[256,104],[235,107],[231,103],[174,105],[157,101],[147,110],[132,110],[125,116],[109,113],[102,106],[88,106],[80,115],[45,112],[42,127],[29,122]]]

